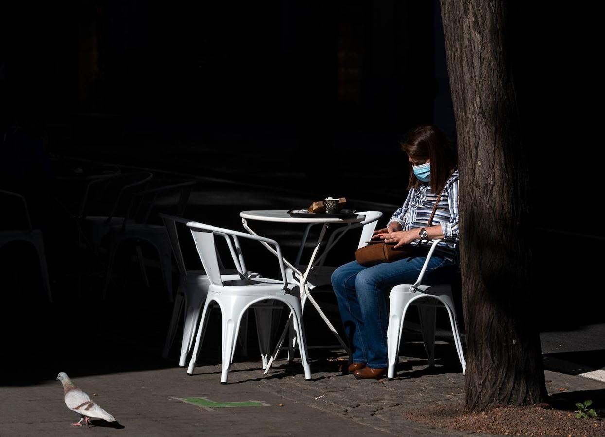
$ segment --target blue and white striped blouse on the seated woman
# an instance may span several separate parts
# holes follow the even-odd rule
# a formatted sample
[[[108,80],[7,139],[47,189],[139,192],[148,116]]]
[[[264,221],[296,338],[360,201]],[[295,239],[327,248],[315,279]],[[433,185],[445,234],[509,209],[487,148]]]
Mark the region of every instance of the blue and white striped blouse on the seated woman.
[[[396,210],[388,224],[399,222],[404,230],[427,227],[433,207],[439,193],[433,193],[430,184],[422,184],[408,192],[404,205]],[[387,224],[387,226],[388,226]],[[458,251],[458,170],[445,183],[443,194],[433,218],[433,226],[441,225],[443,241],[435,248],[435,254],[454,261]],[[422,245],[431,245],[433,241],[422,241]],[[411,244],[417,245],[419,241]]]

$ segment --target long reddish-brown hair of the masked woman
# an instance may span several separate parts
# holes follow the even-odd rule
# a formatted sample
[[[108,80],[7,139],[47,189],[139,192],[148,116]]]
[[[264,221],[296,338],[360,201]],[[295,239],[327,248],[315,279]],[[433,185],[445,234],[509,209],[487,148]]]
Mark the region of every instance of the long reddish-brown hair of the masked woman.
[[[456,150],[436,126],[418,126],[405,134],[401,150],[418,161],[431,161],[431,190],[440,193],[457,167]],[[410,163],[408,190],[423,184],[415,175]]]

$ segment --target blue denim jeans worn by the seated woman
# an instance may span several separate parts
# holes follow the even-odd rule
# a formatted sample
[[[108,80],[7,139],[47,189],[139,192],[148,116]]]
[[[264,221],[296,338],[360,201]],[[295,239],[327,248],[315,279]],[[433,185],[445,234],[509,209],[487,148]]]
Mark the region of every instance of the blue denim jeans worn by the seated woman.
[[[371,267],[352,261],[332,274],[353,363],[366,363],[374,369],[388,367],[388,294],[395,285],[416,282],[426,259],[409,257]],[[445,258],[431,256],[422,283],[451,282],[453,265]]]

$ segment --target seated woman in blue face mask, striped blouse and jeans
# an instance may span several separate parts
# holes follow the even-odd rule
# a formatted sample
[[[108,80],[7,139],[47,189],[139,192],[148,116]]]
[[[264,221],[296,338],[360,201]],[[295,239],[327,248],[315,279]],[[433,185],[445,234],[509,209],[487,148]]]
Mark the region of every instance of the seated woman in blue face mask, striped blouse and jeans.
[[[378,379],[387,373],[388,294],[393,286],[416,282],[432,239],[444,241],[435,248],[423,283],[449,282],[457,259],[456,152],[434,126],[411,130],[401,148],[412,170],[408,196],[387,227],[374,231],[372,239],[382,239],[395,248],[412,244],[413,255],[371,267],[352,261],[332,274],[352,354],[348,371],[358,379]],[[428,226],[438,198],[433,225]]]

